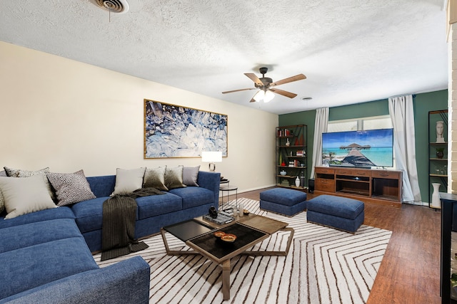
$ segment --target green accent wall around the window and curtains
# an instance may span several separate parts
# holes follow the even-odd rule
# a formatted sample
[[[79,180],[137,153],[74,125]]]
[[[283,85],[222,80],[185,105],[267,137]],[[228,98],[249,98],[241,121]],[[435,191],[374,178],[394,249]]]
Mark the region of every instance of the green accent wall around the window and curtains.
[[[422,201],[428,202],[428,191],[431,189],[431,185],[428,185],[428,111],[446,110],[448,108],[448,90],[416,94],[413,98],[413,104],[418,181],[421,188]],[[329,121],[379,115],[388,115],[388,99],[343,105],[328,110]],[[311,174],[315,120],[316,110],[283,114],[278,117],[280,127],[285,125],[308,125],[308,176]],[[431,128],[434,129],[435,125],[431,126]]]

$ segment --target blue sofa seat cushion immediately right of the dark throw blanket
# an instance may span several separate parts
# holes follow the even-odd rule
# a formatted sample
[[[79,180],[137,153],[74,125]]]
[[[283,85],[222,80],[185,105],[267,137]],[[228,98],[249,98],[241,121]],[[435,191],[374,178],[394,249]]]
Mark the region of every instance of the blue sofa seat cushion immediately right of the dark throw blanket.
[[[136,199],[136,204],[139,219],[183,209],[181,197],[171,193],[139,197]]]

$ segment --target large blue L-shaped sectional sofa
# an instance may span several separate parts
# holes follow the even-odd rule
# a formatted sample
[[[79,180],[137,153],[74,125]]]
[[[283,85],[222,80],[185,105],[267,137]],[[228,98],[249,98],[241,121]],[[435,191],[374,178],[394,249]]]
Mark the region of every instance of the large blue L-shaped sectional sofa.
[[[148,303],[149,265],[137,256],[99,268],[102,204],[116,176],[88,177],[96,198],[2,219],[0,303]],[[136,238],[218,206],[220,174],[199,172],[200,187],[136,199]]]

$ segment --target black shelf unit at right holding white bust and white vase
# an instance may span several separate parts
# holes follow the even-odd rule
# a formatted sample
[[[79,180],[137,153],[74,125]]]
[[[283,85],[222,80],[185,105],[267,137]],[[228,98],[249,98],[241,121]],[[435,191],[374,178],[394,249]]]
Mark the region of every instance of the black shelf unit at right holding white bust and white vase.
[[[440,191],[447,192],[448,189],[448,142],[436,142],[436,122],[443,121],[446,137],[448,128],[448,110],[428,112],[428,206],[433,209],[440,209],[432,206],[433,183],[439,183]],[[443,157],[437,156],[437,150],[443,150]]]

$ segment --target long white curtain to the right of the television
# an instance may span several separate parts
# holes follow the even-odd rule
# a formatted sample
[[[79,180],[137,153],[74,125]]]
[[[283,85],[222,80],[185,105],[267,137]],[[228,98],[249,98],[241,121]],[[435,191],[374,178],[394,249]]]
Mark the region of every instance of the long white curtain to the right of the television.
[[[413,96],[388,99],[393,124],[393,153],[396,167],[403,171],[403,203],[422,204],[416,167]]]

